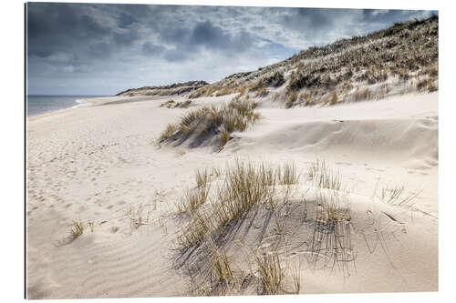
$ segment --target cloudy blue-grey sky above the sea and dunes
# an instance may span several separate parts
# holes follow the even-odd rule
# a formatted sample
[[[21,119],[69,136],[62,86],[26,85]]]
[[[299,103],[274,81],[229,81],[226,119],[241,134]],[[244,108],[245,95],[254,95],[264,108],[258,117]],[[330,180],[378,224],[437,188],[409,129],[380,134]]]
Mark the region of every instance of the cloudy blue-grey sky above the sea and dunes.
[[[29,3],[28,95],[218,81],[435,11]]]

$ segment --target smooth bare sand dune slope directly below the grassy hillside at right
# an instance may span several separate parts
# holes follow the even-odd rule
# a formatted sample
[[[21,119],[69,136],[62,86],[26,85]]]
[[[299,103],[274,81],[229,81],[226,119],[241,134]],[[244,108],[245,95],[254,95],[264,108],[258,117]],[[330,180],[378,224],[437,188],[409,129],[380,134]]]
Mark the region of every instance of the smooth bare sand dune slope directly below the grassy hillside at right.
[[[236,149],[405,161],[438,156],[437,94],[397,96],[381,102],[260,110],[261,126],[237,134]],[[408,108],[409,107],[409,108]],[[229,146],[227,146],[229,147]],[[437,165],[437,162],[432,162]]]

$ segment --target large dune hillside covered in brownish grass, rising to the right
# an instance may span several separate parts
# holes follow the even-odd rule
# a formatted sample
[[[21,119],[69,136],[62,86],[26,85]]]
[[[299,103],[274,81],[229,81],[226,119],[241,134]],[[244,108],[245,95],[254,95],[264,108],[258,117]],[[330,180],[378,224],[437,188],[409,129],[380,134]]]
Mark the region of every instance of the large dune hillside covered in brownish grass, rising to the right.
[[[398,86],[404,92],[412,89],[432,92],[438,90],[438,42],[438,16],[397,23],[370,35],[309,47],[254,72],[227,76],[198,89],[192,97],[228,93],[241,96],[245,90],[264,97],[267,89],[285,86],[278,99],[285,101],[286,107],[292,107],[381,98],[391,92],[390,88],[387,91],[377,87],[382,83]],[[420,85],[415,87],[413,79],[420,81]],[[368,87],[359,92],[354,86]],[[299,93],[307,96],[300,97]]]

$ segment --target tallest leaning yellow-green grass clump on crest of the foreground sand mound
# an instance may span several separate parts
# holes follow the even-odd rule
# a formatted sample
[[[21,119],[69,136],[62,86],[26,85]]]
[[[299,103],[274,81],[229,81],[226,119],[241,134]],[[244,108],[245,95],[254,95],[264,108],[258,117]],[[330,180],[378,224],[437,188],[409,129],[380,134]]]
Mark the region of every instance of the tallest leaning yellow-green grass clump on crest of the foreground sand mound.
[[[200,173],[200,179],[204,179],[202,175]],[[227,167],[224,175],[216,187],[211,206],[194,209],[190,223],[182,228],[178,237],[182,248],[198,246],[206,237],[216,236],[223,227],[246,215],[254,206],[273,203],[277,185],[298,182],[293,164],[271,167],[264,163],[237,161],[233,167]]]

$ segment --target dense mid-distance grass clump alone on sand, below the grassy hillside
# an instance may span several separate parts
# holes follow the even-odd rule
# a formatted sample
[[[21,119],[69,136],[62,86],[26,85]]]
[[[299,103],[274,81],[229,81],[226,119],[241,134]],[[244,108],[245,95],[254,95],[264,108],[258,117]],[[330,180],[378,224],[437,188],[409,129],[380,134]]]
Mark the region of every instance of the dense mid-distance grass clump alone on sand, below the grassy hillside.
[[[181,116],[181,121],[169,124],[161,133],[159,141],[185,140],[189,136],[219,136],[220,145],[224,146],[233,131],[244,131],[260,118],[254,113],[256,104],[239,97],[233,98],[225,106],[202,106],[192,109]]]

